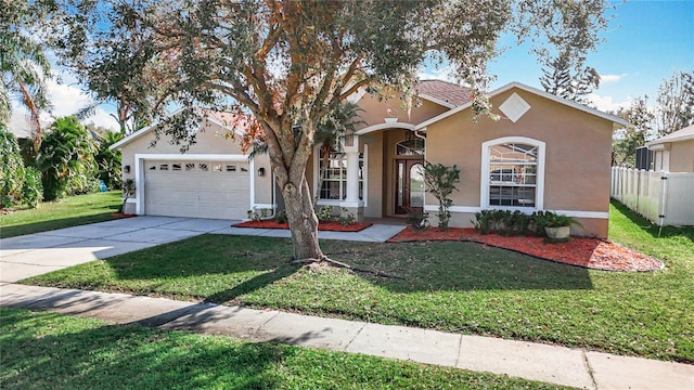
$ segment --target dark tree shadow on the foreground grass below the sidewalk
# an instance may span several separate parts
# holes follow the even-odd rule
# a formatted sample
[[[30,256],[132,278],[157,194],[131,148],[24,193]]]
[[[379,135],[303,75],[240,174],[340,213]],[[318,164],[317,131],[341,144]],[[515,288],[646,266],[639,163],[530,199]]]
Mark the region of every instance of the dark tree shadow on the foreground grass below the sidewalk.
[[[46,323],[64,326],[59,317],[28,311],[3,317],[4,389],[274,388],[281,378],[273,367],[293,353],[273,342],[202,343],[192,334],[137,325],[36,335]]]

